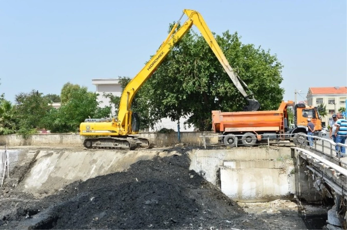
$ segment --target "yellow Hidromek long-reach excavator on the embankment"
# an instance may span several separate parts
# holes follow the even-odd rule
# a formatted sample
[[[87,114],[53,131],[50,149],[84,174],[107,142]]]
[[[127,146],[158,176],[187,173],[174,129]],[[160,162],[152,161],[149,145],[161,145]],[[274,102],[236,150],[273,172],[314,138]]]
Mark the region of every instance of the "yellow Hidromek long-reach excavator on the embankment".
[[[186,14],[188,19],[177,29],[182,17]],[[248,100],[246,110],[256,111],[260,104],[254,99],[253,93],[248,89],[245,82],[230,67],[228,60],[223,54],[217,41],[215,40],[210,29],[206,25],[201,14],[195,10],[185,9],[182,16],[170,31],[167,38],[159,47],[159,50],[151,58],[142,70],[128,83],[124,88],[118,110],[118,117],[107,119],[86,119],[79,126],[79,133],[83,136],[91,136],[84,140],[84,147],[87,149],[128,149],[134,150],[137,147],[153,148],[155,143],[151,139],[139,138],[136,136],[139,132],[139,117],[133,113],[130,108],[136,92],[141,88],[145,81],[158,68],[160,63],[170,52],[171,48],[195,25],[211,47],[213,53],[217,56],[224,70],[230,79],[240,91],[240,93]],[[177,31],[175,32],[175,30]],[[246,90],[248,93],[246,92]],[[100,136],[100,137],[92,137]]]

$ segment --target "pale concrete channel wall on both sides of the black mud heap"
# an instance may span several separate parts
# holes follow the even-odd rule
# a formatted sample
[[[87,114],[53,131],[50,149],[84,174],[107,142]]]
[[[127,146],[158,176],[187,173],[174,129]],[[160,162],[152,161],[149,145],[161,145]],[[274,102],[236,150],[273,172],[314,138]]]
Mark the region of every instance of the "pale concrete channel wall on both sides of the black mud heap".
[[[196,171],[235,201],[264,202],[290,198],[319,199],[307,175],[296,170],[290,148],[239,147],[192,149],[189,169]],[[136,161],[180,154],[166,149],[144,151],[22,147],[10,150],[11,184],[45,196],[76,180],[124,171]],[[309,195],[309,196],[307,196]]]

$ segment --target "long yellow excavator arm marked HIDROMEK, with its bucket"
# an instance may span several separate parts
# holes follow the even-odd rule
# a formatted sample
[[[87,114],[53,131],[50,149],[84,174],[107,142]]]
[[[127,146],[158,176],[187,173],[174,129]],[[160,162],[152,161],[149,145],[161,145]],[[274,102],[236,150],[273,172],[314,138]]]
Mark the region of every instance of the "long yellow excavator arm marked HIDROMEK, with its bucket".
[[[184,24],[174,33],[177,25],[179,24],[180,19],[174,25],[171,32],[169,33],[167,39],[162,43],[159,47],[159,50],[156,54],[151,58],[151,60],[143,67],[143,69],[128,83],[125,87],[121,99],[120,106],[118,112],[118,122],[120,126],[127,126],[127,121],[129,121],[129,109],[132,104],[132,100],[136,94],[136,92],[141,88],[141,86],[145,83],[145,81],[150,78],[155,69],[160,65],[160,63],[165,59],[165,57],[169,54],[171,48],[188,32],[188,30],[195,25],[201,32],[202,36],[205,38],[206,42],[211,47],[213,53],[218,58],[219,62],[222,64],[224,70],[227,72],[228,76],[236,86],[236,88],[240,91],[240,93],[248,100],[248,106],[246,110],[256,111],[259,109],[260,104],[257,100],[254,99],[252,92],[248,89],[245,82],[243,82],[239,76],[234,72],[231,68],[228,60],[223,54],[221,48],[219,47],[217,41],[215,40],[213,34],[210,29],[206,25],[203,17],[195,10],[185,9],[183,11],[183,15],[186,14],[188,19],[184,22]],[[246,92],[246,90],[249,93]]]

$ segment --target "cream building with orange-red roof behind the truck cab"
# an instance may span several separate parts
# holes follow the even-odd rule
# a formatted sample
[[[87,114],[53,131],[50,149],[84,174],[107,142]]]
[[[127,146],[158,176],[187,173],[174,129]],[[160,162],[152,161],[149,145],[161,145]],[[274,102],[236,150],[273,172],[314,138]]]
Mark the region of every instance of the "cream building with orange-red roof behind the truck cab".
[[[328,126],[332,120],[331,115],[336,114],[340,107],[346,108],[347,87],[311,87],[308,89],[308,105],[327,106],[328,116],[322,118],[322,122]]]

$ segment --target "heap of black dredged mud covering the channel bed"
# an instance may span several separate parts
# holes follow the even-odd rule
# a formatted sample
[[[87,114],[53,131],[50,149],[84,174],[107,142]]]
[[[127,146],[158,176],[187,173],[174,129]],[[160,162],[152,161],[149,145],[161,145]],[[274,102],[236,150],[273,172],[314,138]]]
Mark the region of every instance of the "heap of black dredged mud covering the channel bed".
[[[314,229],[293,202],[232,201],[189,170],[187,148],[171,150],[178,153],[74,182],[39,200],[7,184],[0,229]]]

